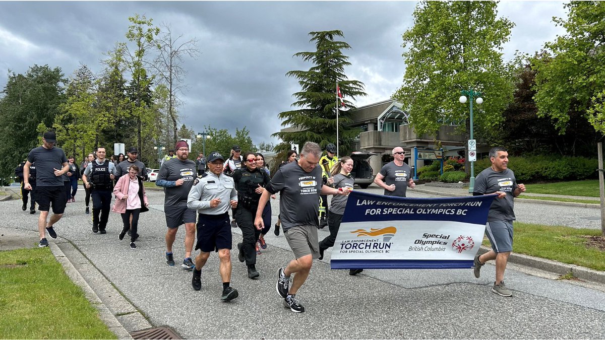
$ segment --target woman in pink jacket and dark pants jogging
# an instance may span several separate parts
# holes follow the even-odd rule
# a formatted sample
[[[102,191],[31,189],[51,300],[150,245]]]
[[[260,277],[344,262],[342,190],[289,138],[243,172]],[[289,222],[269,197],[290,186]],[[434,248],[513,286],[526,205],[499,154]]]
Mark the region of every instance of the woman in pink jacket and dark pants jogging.
[[[128,175],[122,176],[117,180],[114,186],[114,195],[116,195],[116,203],[113,206],[114,212],[122,214],[124,228],[120,232],[120,240],[124,239],[124,235],[130,229],[130,249],[137,249],[134,240],[139,236],[137,234],[137,226],[139,224],[139,214],[149,211],[149,201],[145,195],[145,186],[143,180],[139,176],[139,167],[131,165],[128,168]],[[132,221],[130,220],[132,216]]]

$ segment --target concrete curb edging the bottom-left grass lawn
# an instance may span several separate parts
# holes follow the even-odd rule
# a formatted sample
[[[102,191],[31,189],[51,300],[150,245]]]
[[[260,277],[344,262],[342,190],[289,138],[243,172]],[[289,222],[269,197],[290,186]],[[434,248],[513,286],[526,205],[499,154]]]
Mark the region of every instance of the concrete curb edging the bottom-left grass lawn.
[[[111,313],[110,309],[105,306],[103,301],[99,298],[94,289],[87,283],[86,280],[80,275],[80,272],[74,267],[73,263],[71,263],[70,259],[65,256],[65,253],[57,246],[55,243],[50,243],[50,250],[53,253],[54,257],[59,261],[59,263],[65,269],[65,273],[71,281],[84,291],[88,301],[96,307],[99,311],[99,318],[103,323],[109,327],[111,332],[113,332],[118,339],[132,339],[130,333],[123,327],[123,325],[117,320],[116,316]],[[116,291],[117,293],[117,291]]]

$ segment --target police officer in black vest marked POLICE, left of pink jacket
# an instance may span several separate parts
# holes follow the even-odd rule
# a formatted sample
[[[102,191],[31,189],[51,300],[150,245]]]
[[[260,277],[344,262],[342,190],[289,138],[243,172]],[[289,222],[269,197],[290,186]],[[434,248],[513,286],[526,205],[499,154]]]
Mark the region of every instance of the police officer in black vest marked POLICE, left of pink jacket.
[[[116,175],[116,165],[105,159],[105,154],[105,148],[97,148],[97,159],[88,163],[82,175],[84,185],[92,188],[93,232],[101,234],[106,234],[105,227],[110,217],[111,192]]]

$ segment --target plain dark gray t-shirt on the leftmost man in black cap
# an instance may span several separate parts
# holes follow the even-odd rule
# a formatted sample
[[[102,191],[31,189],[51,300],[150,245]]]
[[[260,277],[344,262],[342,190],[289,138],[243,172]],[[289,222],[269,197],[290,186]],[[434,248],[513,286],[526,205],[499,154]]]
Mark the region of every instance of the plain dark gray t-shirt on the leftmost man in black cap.
[[[37,186],[62,186],[62,176],[55,176],[54,169],[63,168],[63,163],[67,163],[65,152],[61,148],[53,146],[51,149],[38,146],[31,149],[27,155],[30,163],[36,163],[36,185]]]

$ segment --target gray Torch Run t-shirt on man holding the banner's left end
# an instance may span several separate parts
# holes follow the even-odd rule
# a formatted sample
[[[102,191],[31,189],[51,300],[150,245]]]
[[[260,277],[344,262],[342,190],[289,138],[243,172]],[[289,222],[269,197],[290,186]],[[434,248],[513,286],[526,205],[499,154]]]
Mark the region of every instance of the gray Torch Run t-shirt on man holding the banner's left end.
[[[266,188],[271,194],[280,192],[281,225],[285,230],[302,225],[317,226],[321,168],[305,172],[296,162],[275,172]]]

